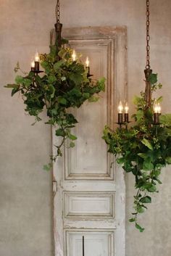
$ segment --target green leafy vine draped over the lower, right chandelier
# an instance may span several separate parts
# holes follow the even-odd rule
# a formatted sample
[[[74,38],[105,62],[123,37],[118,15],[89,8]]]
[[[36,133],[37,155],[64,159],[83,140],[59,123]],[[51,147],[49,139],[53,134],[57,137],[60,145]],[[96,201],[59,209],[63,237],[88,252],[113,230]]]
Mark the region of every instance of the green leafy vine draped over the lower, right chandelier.
[[[157,84],[157,74],[149,77],[151,91],[161,88]],[[162,97],[157,99],[161,102]],[[108,152],[117,157],[117,163],[122,165],[126,173],[135,176],[134,212],[130,222],[143,232],[138,224],[138,214],[143,213],[149,203],[151,194],[158,192],[157,183],[161,184],[159,175],[162,168],[171,164],[171,114],[160,115],[159,125],[153,125],[153,109],[147,107],[145,94],[136,96],[134,103],[136,113],[133,115],[135,125],[130,128],[122,127],[112,131],[104,128],[103,139],[109,145]],[[154,99],[151,100],[152,105]]]

